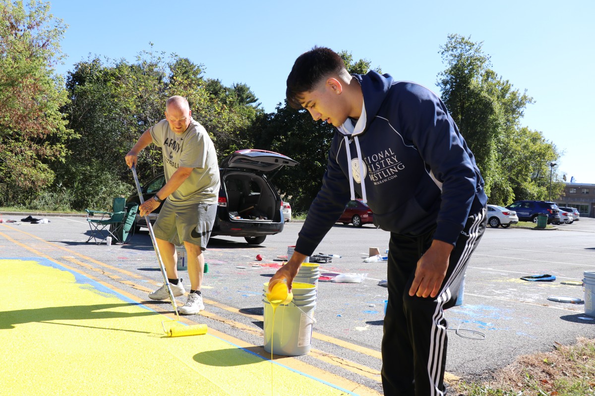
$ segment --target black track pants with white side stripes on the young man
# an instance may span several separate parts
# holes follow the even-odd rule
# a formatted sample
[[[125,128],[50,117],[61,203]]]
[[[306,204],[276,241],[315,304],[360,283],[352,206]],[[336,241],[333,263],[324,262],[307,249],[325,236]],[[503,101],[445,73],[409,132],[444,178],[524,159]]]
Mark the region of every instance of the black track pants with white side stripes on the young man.
[[[446,319],[455,305],[466,265],[486,230],[486,210],[469,216],[455,248],[440,293],[409,296],[417,262],[430,248],[434,231],[418,237],[391,233],[388,260],[389,304],[382,340],[384,395],[444,395]]]

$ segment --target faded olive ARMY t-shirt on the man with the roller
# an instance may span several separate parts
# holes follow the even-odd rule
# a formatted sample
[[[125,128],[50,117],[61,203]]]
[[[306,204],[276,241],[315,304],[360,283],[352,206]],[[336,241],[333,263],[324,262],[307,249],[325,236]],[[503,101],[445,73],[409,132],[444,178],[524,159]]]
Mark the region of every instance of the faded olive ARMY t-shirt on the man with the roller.
[[[190,119],[182,134],[170,129],[167,119],[152,126],[153,142],[161,147],[165,181],[178,167],[194,168],[190,176],[167,199],[174,205],[216,204],[219,197],[219,163],[211,137],[205,128]]]

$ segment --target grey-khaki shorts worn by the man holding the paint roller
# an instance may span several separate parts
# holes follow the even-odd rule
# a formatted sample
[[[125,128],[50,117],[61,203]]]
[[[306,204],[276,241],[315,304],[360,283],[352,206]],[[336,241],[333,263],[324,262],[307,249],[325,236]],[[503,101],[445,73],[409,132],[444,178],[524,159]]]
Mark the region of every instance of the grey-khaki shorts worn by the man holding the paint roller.
[[[206,249],[217,216],[217,204],[172,205],[165,201],[155,222],[155,237],[174,245],[193,243]]]

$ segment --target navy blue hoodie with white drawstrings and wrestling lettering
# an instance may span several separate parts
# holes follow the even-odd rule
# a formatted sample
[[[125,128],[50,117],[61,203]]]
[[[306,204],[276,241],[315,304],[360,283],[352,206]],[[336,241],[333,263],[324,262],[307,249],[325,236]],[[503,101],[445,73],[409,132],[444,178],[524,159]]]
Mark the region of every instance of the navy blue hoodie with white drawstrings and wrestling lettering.
[[[355,198],[354,189],[381,229],[417,236],[435,228],[434,239],[454,244],[487,197],[475,158],[446,106],[422,85],[388,74],[353,77],[362,87],[365,110],[355,128],[347,119],[336,129],[322,188],[295,250],[314,252]]]

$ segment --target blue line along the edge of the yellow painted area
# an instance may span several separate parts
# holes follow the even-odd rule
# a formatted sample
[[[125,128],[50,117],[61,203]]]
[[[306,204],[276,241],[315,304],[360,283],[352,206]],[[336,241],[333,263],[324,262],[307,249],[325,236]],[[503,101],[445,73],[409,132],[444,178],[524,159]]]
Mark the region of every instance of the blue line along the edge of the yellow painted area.
[[[88,285],[93,286],[96,289],[98,289],[98,291],[111,294],[112,296],[118,297],[121,300],[124,300],[126,302],[131,302],[131,303],[133,303],[136,306],[142,307],[142,308],[144,308],[144,309],[146,309],[148,311],[151,311],[151,312],[155,312],[158,315],[162,315],[161,312],[156,312],[154,309],[151,309],[148,306],[143,305],[142,303],[136,302],[133,299],[130,299],[129,297],[126,297],[123,294],[120,294],[120,293],[116,292],[115,290],[109,289],[108,287],[105,287],[102,284],[99,284],[98,282],[92,280],[91,278],[87,277],[86,275],[82,275],[82,274],[76,273],[73,270],[70,270],[68,268],[62,267],[60,264],[57,264],[57,263],[52,262],[52,261],[49,261],[46,258],[43,258],[43,257],[0,257],[0,259],[20,260],[20,261],[36,261],[38,264],[45,265],[46,267],[56,268],[56,269],[58,269],[60,271],[67,271],[67,272],[69,272],[69,273],[71,273],[71,274],[74,275],[74,278],[76,279],[77,283],[88,284]],[[178,322],[178,323],[180,323],[180,322]],[[183,324],[183,325],[186,325],[187,326],[187,324],[185,324],[185,323],[180,323],[180,324]],[[295,369],[292,369],[290,367],[287,367],[286,365],[282,365],[281,363],[277,363],[274,360],[271,361],[270,359],[267,359],[266,357],[260,356],[259,354],[255,353],[255,352],[252,352],[252,351],[250,351],[248,349],[245,349],[243,347],[237,346],[234,343],[230,343],[230,341],[224,340],[223,338],[219,338],[216,335],[211,335],[211,334],[209,334],[209,335],[211,337],[217,338],[217,340],[223,341],[224,343],[230,344],[231,346],[234,346],[237,349],[243,350],[243,351],[245,351],[245,352],[247,352],[249,354],[252,354],[254,356],[257,356],[257,357],[259,357],[262,360],[268,360],[268,361],[274,363],[275,365],[278,365],[280,367],[286,368],[287,370],[293,371],[293,372],[295,372],[295,373],[297,373],[299,375],[303,375],[303,376],[308,377],[310,379],[314,379],[314,381],[318,381],[321,384],[328,385],[331,388],[339,389],[339,391],[346,392],[349,395],[358,396],[357,394],[355,394],[355,393],[353,393],[351,391],[348,391],[347,389],[344,389],[344,388],[341,388],[341,387],[337,387],[337,385],[334,385],[334,384],[331,384],[330,382],[324,381],[324,379],[313,377],[313,376],[311,376],[309,374],[306,374],[304,372],[301,372],[299,370],[295,370]]]

